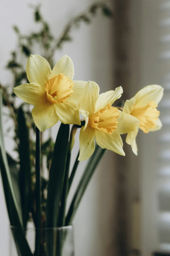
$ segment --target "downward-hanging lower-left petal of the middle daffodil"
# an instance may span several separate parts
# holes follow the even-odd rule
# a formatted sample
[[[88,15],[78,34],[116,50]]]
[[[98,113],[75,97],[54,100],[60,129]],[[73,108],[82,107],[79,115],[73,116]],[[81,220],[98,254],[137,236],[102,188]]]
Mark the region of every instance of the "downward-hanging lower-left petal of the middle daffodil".
[[[91,157],[92,153],[95,149],[95,131],[94,129],[87,127],[83,131],[83,127],[80,129],[80,154],[79,154],[79,161],[84,161]]]

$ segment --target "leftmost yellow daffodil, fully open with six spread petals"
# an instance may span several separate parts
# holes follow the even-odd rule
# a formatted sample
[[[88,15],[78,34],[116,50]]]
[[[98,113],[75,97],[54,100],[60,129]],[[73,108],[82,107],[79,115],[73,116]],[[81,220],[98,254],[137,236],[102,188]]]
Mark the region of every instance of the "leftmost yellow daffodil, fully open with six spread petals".
[[[14,88],[23,101],[35,105],[32,116],[35,125],[44,131],[58,120],[64,124],[80,125],[78,103],[85,81],[73,81],[74,65],[64,55],[51,70],[47,60],[31,55],[26,66],[30,82]]]

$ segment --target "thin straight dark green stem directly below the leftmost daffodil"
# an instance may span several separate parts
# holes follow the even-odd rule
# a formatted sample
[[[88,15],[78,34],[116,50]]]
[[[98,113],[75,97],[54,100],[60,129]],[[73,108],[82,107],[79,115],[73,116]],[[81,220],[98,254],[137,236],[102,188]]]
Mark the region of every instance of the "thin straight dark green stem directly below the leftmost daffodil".
[[[41,138],[40,131],[36,127],[36,152],[35,152],[35,171],[36,171],[36,213],[35,213],[35,255],[40,256],[41,243]]]

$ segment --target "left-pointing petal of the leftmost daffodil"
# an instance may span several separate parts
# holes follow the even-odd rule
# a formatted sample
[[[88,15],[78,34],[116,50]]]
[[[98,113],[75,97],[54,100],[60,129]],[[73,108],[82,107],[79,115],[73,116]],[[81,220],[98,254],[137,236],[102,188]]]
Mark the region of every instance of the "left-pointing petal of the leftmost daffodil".
[[[39,84],[21,84],[14,88],[14,93],[23,101],[38,105],[46,101],[45,91]]]

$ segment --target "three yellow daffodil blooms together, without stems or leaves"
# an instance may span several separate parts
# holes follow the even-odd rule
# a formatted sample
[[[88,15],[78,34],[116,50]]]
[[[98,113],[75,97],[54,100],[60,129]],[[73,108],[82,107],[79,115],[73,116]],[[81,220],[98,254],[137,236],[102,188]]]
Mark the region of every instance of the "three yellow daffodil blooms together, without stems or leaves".
[[[120,155],[125,155],[120,134],[127,133],[126,142],[137,155],[136,136],[139,128],[145,133],[162,127],[157,104],[163,97],[160,85],[149,85],[127,100],[123,111],[112,107],[121,97],[122,87],[99,94],[99,86],[92,81],[75,81],[74,65],[64,55],[51,70],[47,60],[31,55],[27,61],[30,83],[14,88],[23,101],[34,105],[35,125],[43,132],[58,120],[64,124],[80,125],[79,113],[85,119],[80,130],[79,161],[88,159],[96,143]]]

